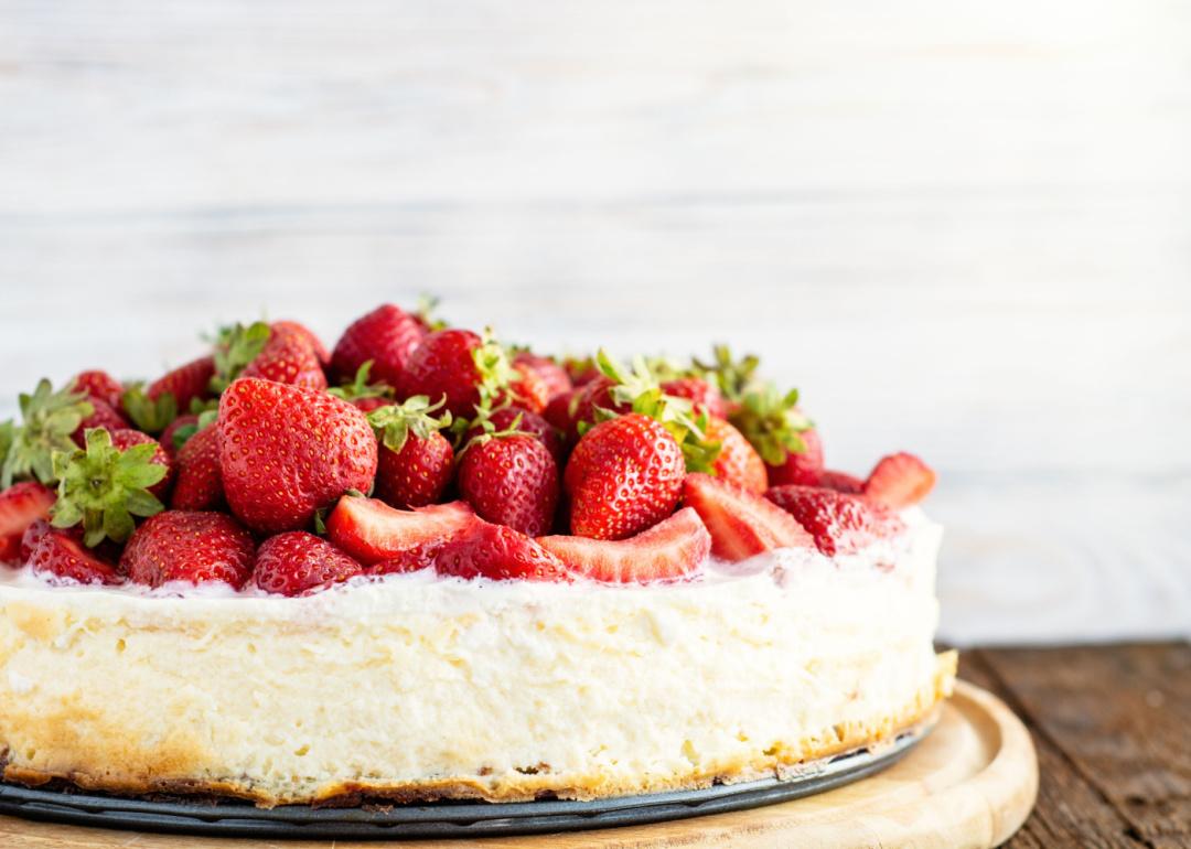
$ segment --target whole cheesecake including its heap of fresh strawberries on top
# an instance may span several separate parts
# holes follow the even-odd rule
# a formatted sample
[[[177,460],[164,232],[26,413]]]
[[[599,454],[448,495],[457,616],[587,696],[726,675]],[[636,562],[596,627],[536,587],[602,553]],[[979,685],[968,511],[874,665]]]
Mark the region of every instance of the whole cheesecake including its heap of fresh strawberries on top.
[[[5,781],[258,805],[787,776],[931,720],[913,455],[756,360],[560,360],[384,305],[0,425]]]

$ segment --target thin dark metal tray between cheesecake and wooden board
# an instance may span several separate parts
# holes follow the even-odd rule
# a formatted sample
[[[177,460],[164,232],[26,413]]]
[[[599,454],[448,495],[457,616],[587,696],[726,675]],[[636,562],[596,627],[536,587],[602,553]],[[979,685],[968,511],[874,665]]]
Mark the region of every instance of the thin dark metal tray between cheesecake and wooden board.
[[[929,733],[921,726],[878,749],[833,757],[805,774],[705,789],[615,797],[594,801],[538,800],[492,804],[443,801],[424,805],[255,807],[249,803],[204,804],[175,797],[121,799],[77,789],[31,789],[0,784],[0,813],[143,831],[224,837],[339,839],[462,838],[532,835],[617,825],[643,825],[709,813],[742,811],[822,793],[888,767]]]

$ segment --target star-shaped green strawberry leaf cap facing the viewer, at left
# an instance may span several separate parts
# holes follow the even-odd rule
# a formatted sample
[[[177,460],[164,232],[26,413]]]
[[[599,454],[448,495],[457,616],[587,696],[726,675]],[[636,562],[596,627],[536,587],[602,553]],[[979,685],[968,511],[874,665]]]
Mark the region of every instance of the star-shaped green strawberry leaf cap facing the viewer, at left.
[[[124,542],[132,533],[133,516],[154,516],[164,505],[148,487],[166,476],[166,467],[152,462],[156,445],[146,443],[120,450],[102,427],[87,430],[87,448],[54,452],[58,499],[50,510],[55,527],[82,523],[83,543]]]

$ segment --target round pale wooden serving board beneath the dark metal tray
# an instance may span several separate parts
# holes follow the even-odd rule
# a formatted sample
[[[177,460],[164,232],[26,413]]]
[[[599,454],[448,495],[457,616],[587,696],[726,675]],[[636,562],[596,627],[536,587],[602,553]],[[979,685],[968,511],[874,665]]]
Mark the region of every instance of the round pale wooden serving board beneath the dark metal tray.
[[[986,849],[1025,820],[1037,793],[1030,735],[1004,703],[960,682],[934,732],[883,773],[819,795],[752,811],[657,825],[538,837],[480,838],[468,847],[512,849]],[[461,849],[464,842],[389,843],[229,839],[108,831],[0,817],[0,845],[12,849]]]

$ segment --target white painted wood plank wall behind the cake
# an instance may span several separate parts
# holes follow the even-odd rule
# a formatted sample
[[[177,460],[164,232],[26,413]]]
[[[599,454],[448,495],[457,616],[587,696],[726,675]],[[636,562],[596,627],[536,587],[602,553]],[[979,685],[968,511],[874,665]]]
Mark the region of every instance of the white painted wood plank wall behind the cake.
[[[220,319],[713,339],[942,473],[943,636],[1191,632],[1191,5],[0,0],[4,411]]]

